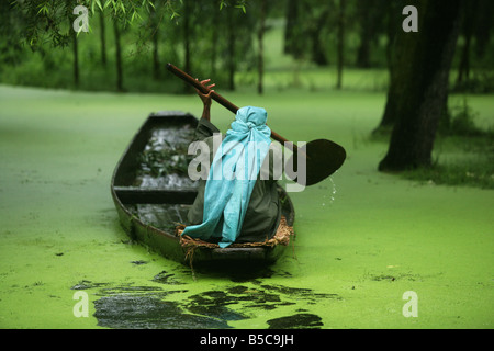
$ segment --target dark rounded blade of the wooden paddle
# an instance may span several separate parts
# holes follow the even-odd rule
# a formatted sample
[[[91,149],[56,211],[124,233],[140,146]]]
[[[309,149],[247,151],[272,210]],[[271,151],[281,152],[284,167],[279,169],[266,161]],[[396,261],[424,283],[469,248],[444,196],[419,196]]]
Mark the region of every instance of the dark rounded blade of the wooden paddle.
[[[294,172],[293,174],[287,172],[287,176],[292,180],[295,180],[296,177],[295,181],[302,185],[314,185],[336,172],[345,162],[346,157],[345,149],[338,144],[326,139],[313,140],[300,147],[291,156],[289,162],[293,162]],[[304,166],[305,184],[303,177],[301,177]]]

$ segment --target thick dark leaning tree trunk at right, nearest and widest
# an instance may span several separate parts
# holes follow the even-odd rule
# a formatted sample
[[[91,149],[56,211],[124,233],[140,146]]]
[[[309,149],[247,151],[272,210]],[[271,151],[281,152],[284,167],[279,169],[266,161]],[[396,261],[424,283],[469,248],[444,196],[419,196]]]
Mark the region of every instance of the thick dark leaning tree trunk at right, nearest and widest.
[[[436,129],[448,95],[460,4],[461,0],[419,1],[417,10],[424,15],[419,21],[419,32],[414,34],[416,46],[408,59],[409,69],[405,69],[407,79],[402,80],[406,86],[398,100],[398,118],[388,154],[379,165],[381,171],[431,165]]]

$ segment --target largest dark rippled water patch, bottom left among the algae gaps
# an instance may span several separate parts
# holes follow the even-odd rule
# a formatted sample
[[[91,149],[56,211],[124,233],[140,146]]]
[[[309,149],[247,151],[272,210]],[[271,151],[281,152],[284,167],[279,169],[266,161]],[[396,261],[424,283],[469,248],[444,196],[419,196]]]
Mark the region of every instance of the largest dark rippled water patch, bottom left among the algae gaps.
[[[229,328],[218,319],[183,313],[176,302],[153,295],[105,296],[94,302],[98,326],[115,329]]]

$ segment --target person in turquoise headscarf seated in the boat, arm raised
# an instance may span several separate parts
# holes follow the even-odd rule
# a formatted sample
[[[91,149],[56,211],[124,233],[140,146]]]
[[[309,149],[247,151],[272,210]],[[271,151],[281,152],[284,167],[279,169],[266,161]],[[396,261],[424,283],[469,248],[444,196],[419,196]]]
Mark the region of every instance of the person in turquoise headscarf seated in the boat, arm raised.
[[[201,83],[207,88],[215,86],[210,84],[210,79]],[[211,123],[211,92],[198,94],[203,113],[195,140],[209,146],[212,162],[207,179],[199,180],[198,195],[188,214],[189,225],[182,235],[217,242],[222,248],[233,242],[270,239],[280,223],[281,206],[269,159],[270,177],[259,177],[266,156],[273,159],[267,112],[252,106],[239,109],[231,129],[222,136]],[[222,141],[214,152],[217,136]]]

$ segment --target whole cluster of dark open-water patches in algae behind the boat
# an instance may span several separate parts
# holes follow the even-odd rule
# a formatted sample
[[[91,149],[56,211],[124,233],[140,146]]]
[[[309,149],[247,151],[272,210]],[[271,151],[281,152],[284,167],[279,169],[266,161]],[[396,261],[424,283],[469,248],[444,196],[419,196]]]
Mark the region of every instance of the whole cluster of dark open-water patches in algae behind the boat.
[[[177,273],[180,276],[180,273]],[[290,308],[289,315],[269,319],[270,328],[316,328],[321,318],[310,305],[322,299],[341,299],[337,294],[317,293],[311,288],[265,284],[259,279],[245,284],[224,284],[192,295],[188,290],[166,290],[169,285],[186,285],[173,273],[161,271],[149,286],[132,283],[111,285],[81,281],[72,288],[98,287],[94,317],[98,325],[109,328],[231,328],[232,321],[256,318],[266,312]],[[162,285],[161,285],[162,284]],[[179,294],[178,298],[170,298]],[[287,314],[290,314],[287,310]],[[280,313],[278,313],[280,315]]]

